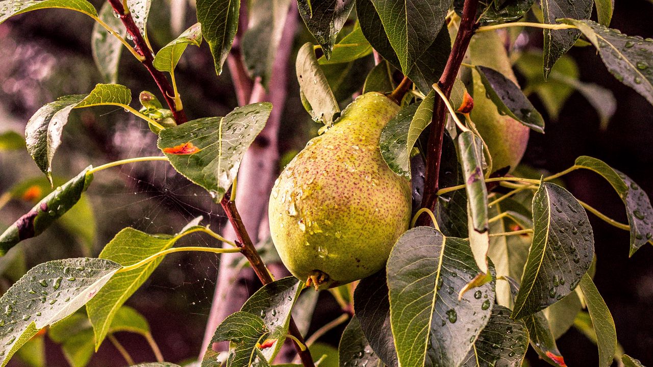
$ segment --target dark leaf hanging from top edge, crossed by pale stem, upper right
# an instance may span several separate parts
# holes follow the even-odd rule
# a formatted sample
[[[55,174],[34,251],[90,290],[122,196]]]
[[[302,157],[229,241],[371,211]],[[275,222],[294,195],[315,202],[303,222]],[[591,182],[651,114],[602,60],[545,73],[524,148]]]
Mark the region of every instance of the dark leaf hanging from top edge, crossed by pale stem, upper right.
[[[559,18],[590,19],[594,0],[541,0],[544,22],[556,24]],[[544,29],[544,78],[553,65],[581,36],[577,29]]]

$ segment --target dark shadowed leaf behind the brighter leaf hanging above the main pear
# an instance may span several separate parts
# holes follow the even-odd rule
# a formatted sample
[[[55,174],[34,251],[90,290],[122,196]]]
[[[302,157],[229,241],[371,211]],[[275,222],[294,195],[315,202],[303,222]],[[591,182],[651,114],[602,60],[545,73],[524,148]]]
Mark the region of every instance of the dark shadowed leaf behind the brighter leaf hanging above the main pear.
[[[380,2],[400,3],[400,1],[396,0]],[[423,6],[424,3],[426,3],[426,1],[421,0],[419,5]],[[395,53],[395,50],[392,48],[392,44],[390,44],[387,30],[385,29],[384,23],[381,22],[379,13],[377,13],[374,6],[375,5],[372,4],[372,1],[370,0],[356,1],[356,11],[358,14],[358,22],[360,22],[360,29],[363,31],[365,38],[370,42],[372,47],[374,47],[374,50],[377,50],[377,52],[379,52],[379,54],[394,67],[406,71],[406,69],[403,68],[404,65],[400,62],[399,57]],[[446,7],[445,13],[448,12],[449,5],[447,4],[447,1],[443,1],[438,5],[439,10],[444,7]],[[401,28],[402,25],[406,27],[405,19],[400,20],[398,28]],[[409,65],[408,68],[409,71],[407,72],[410,80],[412,80],[424,94],[430,92],[434,80],[438,80],[440,74],[444,71],[449,52],[451,52],[451,39],[449,38],[447,28],[442,27],[442,30],[439,30],[438,33],[435,33],[435,29],[436,28],[428,29],[429,33],[433,33],[434,38],[426,44],[427,48],[422,50],[421,54],[411,61],[411,65]],[[426,42],[426,39],[422,39],[422,42]],[[419,44],[422,44],[422,42],[419,42]],[[411,48],[414,48],[415,44],[409,44],[411,45]]]

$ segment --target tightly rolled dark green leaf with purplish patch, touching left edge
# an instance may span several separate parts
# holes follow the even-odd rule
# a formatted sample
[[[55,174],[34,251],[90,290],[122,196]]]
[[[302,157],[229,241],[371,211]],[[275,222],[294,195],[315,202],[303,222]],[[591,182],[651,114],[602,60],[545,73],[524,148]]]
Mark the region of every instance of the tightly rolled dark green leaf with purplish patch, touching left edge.
[[[70,210],[93,180],[93,175],[86,174],[90,168],[87,167],[69,182],[57,187],[3,232],[0,235],[0,255],[5,255],[18,242],[38,236]]]

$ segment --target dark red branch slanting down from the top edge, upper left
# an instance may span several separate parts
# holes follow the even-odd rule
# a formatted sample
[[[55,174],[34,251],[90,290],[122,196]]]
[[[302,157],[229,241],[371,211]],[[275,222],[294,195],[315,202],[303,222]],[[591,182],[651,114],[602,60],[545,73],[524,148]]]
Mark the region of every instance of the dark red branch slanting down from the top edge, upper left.
[[[138,25],[136,25],[134,22],[134,18],[131,16],[131,12],[129,12],[129,10],[125,12],[125,8],[123,7],[123,2],[121,0],[108,1],[111,4],[111,7],[114,8],[118,14],[120,14],[120,20],[123,22],[123,25],[125,25],[127,34],[134,41],[134,49],[136,50],[136,53],[143,57],[140,62],[145,66],[146,69],[148,69],[157,86],[159,86],[161,93],[163,93],[163,99],[165,99],[166,103],[168,103],[168,106],[170,107],[170,110],[172,111],[174,120],[177,121],[178,124],[185,123],[187,118],[185,112],[183,112],[183,108],[177,108],[176,103],[174,102],[174,89],[172,89],[172,86],[170,85],[170,82],[168,82],[168,78],[166,78],[165,74],[163,74],[161,71],[158,71],[154,65],[152,65],[152,61],[154,61],[154,54],[152,53],[152,50],[150,50],[150,46],[148,46],[144,36],[140,34]]]

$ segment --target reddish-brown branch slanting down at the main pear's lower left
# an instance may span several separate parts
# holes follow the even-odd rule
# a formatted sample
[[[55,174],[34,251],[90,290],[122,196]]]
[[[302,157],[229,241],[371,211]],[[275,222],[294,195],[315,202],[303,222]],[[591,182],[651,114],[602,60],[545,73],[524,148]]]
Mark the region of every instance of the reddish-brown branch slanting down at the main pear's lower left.
[[[249,261],[249,264],[251,264],[251,267],[254,269],[254,272],[259,277],[263,285],[271,283],[274,279],[272,279],[272,276],[270,276],[268,268],[266,268],[263,260],[261,259],[261,256],[256,251],[254,244],[251,242],[249,234],[247,234],[247,230],[245,229],[245,225],[240,218],[240,214],[238,214],[236,203],[229,200],[229,194],[227,194],[222,198],[220,204],[222,209],[225,211],[227,218],[229,218],[229,223],[231,223],[232,227],[234,227],[237,238],[236,244],[238,244],[238,247],[240,247],[240,253],[242,253],[247,258],[247,261]],[[297,325],[295,325],[295,321],[292,317],[290,319],[288,333],[297,338],[297,340],[299,340],[302,344],[304,344],[304,337],[302,336],[302,333],[299,332],[299,329],[297,328]],[[302,351],[298,343],[293,342],[293,344],[295,345],[295,350],[297,351],[302,364],[304,364],[304,367],[315,367],[315,364],[313,364],[313,358],[311,357],[311,352],[308,350],[308,348]]]

